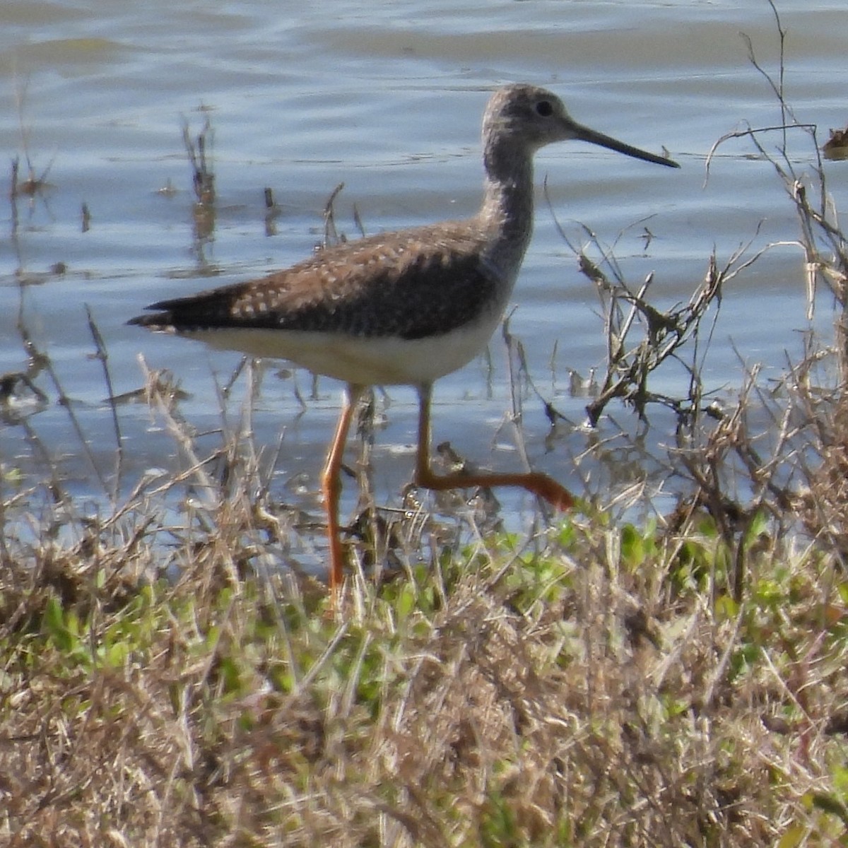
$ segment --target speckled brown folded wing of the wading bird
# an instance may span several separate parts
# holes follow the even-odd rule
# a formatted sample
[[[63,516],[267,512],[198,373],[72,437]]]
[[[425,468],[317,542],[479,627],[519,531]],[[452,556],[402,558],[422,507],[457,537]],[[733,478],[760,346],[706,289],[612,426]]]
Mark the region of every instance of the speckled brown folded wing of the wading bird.
[[[476,234],[477,233],[477,234]],[[357,337],[438,336],[488,313],[497,280],[466,222],[381,233],[327,248],[266,277],[163,300],[131,324],[242,327]]]

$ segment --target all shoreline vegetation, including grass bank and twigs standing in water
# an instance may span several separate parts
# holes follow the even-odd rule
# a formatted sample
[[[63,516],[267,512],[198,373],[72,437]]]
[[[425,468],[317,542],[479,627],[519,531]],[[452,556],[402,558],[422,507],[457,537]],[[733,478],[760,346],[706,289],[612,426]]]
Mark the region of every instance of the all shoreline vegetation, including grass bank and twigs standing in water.
[[[660,312],[650,279],[628,284],[610,250],[562,231],[608,339],[589,420],[609,404],[676,416],[667,473],[687,494],[668,515],[624,515],[647,487],[562,519],[540,511],[521,535],[499,528],[485,494],[469,505],[410,490],[389,514],[369,496],[366,407],[365,494],[334,613],[322,583],[276,567],[293,536],[321,528],[273,499],[249,418],[209,456],[164,372],[146,370],[137,397],[183,465],[119,494],[118,447],[102,508],[82,516],[27,416],[12,417],[21,396],[58,399],[88,449],[21,319],[31,367],[0,377],[0,404],[43,473],[0,466],[4,845],[848,840],[848,249],[816,128],[795,120],[782,71],[773,81],[751,60],[784,121],[714,150],[741,137],[774,166],[798,216],[809,309],[817,287],[832,296],[832,339],[811,335],[778,384],[740,366],[722,408],[700,379],[704,347],[723,287],[773,246],[713,255],[689,304]],[[184,133],[198,238],[215,220],[209,129]],[[799,133],[815,150],[803,173],[787,152]],[[125,399],[90,327],[120,446]],[[508,324],[504,338],[520,363]],[[683,397],[651,390],[669,360],[689,375]],[[516,408],[527,386],[541,397],[521,368],[518,383]]]

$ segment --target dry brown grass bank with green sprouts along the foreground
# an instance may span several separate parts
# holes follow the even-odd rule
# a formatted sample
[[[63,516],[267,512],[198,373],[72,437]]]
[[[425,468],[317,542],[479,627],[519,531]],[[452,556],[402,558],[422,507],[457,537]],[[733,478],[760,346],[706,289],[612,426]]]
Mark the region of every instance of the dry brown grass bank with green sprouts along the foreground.
[[[274,507],[232,471],[193,530],[139,491],[73,543],[26,543],[4,503],[5,844],[845,833],[838,558],[754,535],[737,603],[736,551],[701,511],[683,532],[573,516],[541,553],[457,555],[433,527],[431,562],[354,570],[334,617],[310,579],[257,575]]]

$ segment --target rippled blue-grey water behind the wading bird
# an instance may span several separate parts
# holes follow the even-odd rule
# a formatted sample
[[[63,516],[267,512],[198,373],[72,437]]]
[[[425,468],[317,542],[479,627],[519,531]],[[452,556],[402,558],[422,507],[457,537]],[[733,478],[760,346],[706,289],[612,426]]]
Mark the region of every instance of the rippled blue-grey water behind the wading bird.
[[[828,127],[848,119],[844,0],[777,4],[788,31],[787,97],[824,141]],[[0,144],[7,163],[28,154],[37,174],[49,168],[47,190],[31,203],[20,200],[16,233],[10,204],[0,212],[0,374],[25,367],[16,329],[22,310],[36,346],[50,355],[75,401],[104,473],[114,438],[86,304],[108,347],[116,393],[141,384],[142,353],[152,367],[170,368],[192,394],[182,412],[199,430],[218,426],[216,382],[226,382],[238,357],[153,337],[126,327],[126,319],[155,299],[309,254],[320,237],[323,204],[342,181],[338,226],[351,235],[354,204],[369,232],[470,214],[479,199],[479,120],[488,92],[501,83],[550,86],[577,120],[642,148],[665,147],[683,165],[658,168],[577,143],[538,157],[538,183],[547,180],[569,237],[583,240],[581,222],[602,243],[616,243],[631,282],[656,271],[650,296],[657,305],[689,299],[713,248],[722,262],[749,239],[756,249],[796,237],[784,189],[772,166],[751,156],[749,142],[724,145],[705,185],[706,153],[718,137],[744,122],[779,122],[778,104],[739,35],[750,36],[757,59],[776,75],[778,36],[766,2],[290,5],[0,5]],[[212,237],[198,243],[181,121],[197,132],[207,115],[218,205]],[[812,165],[808,139],[798,133],[789,142],[799,170]],[[848,165],[827,168],[845,208]],[[176,192],[159,191],[166,186]],[[282,206],[271,230],[266,186]],[[88,232],[81,232],[82,204],[92,216]],[[644,226],[654,235],[647,251]],[[64,273],[53,273],[59,263]],[[594,291],[544,203],[515,299],[511,330],[522,339],[534,382],[564,415],[581,421],[584,400],[568,393],[568,370],[587,374],[602,365],[602,324]],[[818,315],[826,329],[826,302]],[[777,376],[786,352],[799,354],[806,328],[801,254],[775,249],[725,293],[707,383],[721,391],[738,386],[739,356]],[[490,354],[490,364],[472,363],[439,382],[434,438],[506,468],[516,459],[510,431],[499,429],[510,408],[499,338]],[[295,379],[308,393],[308,375]],[[675,391],[684,381],[671,367],[655,388]],[[64,457],[75,490],[98,490],[55,388],[44,376],[39,385],[53,402],[31,416],[31,427]],[[273,368],[254,416],[262,440],[285,430],[281,481],[304,475],[311,489],[338,410],[338,385],[322,380],[318,389],[301,412],[293,379]],[[167,465],[173,446],[148,410],[137,404],[120,413],[128,481],[148,466]],[[572,458],[586,434],[563,433],[546,449],[547,421],[533,395],[525,399],[523,423],[533,464],[582,491],[592,471],[575,471]],[[409,477],[414,425],[413,394],[393,390],[375,455],[387,500]],[[658,416],[658,443],[671,426]],[[0,423],[0,462],[28,467],[30,453],[22,429]]]

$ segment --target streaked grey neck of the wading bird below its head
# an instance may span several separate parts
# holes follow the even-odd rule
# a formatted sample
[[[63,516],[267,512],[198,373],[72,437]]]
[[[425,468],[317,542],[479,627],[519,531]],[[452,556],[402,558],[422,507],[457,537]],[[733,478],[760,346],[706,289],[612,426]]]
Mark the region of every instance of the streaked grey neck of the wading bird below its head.
[[[488,140],[480,218],[490,234],[488,259],[514,280],[533,233],[533,159],[505,140]]]

